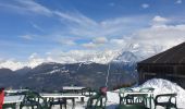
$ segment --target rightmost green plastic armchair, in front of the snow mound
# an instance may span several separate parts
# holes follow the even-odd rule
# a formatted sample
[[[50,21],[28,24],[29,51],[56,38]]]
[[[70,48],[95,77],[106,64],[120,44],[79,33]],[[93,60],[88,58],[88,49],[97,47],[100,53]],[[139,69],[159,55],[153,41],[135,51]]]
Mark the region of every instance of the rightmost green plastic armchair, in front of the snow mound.
[[[177,109],[176,106],[176,96],[177,94],[161,94],[161,95],[157,95],[156,99],[155,99],[155,109],[157,109],[157,106],[162,106],[165,107],[165,109],[170,109],[170,108],[175,108]],[[159,101],[159,98],[169,98],[168,101]],[[172,101],[174,99],[174,102]]]

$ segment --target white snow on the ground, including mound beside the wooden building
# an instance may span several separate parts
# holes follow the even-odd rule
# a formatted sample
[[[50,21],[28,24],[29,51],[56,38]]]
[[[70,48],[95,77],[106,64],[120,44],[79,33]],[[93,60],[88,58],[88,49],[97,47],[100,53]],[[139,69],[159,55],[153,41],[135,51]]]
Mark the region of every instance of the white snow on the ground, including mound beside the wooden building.
[[[153,95],[177,93],[177,108],[185,108],[185,89],[175,83],[162,78],[152,78],[143,85],[135,87],[138,90],[144,87],[153,87]],[[119,105],[119,94],[108,92],[108,109],[114,109]],[[159,109],[159,107],[157,108]],[[160,108],[161,109],[161,108]]]

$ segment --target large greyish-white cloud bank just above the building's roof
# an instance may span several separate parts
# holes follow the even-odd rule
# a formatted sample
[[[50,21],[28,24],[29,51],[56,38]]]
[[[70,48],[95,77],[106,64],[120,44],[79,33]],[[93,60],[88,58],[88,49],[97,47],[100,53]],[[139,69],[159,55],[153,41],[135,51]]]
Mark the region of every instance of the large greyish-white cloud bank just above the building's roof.
[[[133,34],[132,40],[139,44],[163,46],[164,49],[185,41],[185,24],[151,26]]]

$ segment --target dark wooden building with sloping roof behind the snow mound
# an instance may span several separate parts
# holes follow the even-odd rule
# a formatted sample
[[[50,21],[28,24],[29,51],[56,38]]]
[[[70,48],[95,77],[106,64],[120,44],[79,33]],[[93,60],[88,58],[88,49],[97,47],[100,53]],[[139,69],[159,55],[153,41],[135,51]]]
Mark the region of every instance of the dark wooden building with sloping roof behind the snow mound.
[[[185,43],[138,62],[139,84],[150,78],[165,78],[185,88]]]

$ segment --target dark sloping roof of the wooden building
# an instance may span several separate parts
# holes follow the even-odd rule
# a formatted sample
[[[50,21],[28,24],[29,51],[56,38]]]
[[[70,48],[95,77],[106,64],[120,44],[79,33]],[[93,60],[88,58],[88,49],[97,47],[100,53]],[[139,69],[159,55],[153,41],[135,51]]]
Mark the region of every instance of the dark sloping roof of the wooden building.
[[[143,63],[162,63],[162,64],[184,64],[185,63],[185,43],[177,45],[166,51],[146,59]]]

